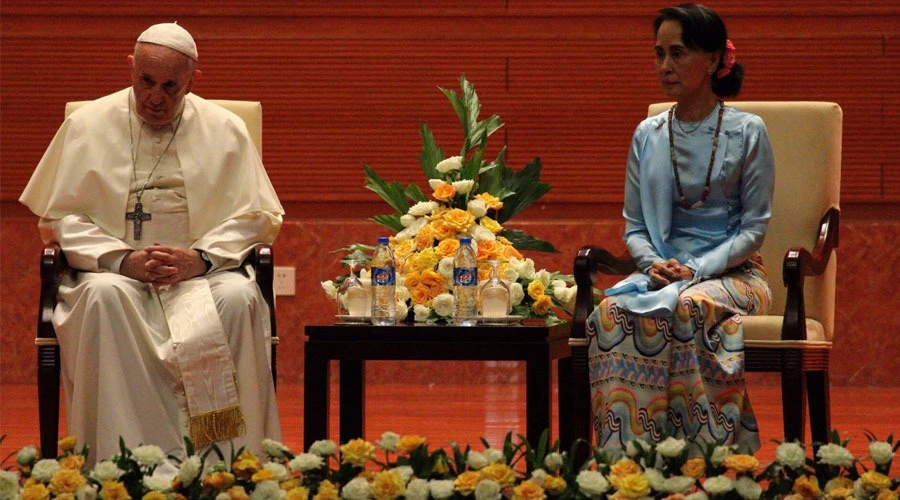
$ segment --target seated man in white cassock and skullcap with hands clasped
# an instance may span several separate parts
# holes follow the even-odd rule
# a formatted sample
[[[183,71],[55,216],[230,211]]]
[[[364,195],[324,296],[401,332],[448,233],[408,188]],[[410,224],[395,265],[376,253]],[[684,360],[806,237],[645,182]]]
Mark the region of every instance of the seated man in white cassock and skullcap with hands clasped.
[[[200,76],[174,23],[140,35],[132,86],[77,109],[20,201],[78,269],[53,315],[67,432],[91,462],[183,437],[227,454],[281,439],[269,311],[252,269],[284,213],[244,122],[189,93]]]

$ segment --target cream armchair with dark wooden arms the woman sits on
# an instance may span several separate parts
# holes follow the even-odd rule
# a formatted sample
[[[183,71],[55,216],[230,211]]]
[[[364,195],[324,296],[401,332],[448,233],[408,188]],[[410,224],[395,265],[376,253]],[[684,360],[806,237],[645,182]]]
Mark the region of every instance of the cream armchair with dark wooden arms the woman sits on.
[[[728,104],[763,118],[775,155],[772,219],[762,247],[772,308],[768,316],[743,318],[746,369],[781,373],[786,440],[805,439],[808,402],[812,439],[826,442],[831,428],[828,360],[834,338],[843,114],[829,102]],[[671,103],[653,104],[648,113],[656,115],[668,107]],[[573,425],[566,432],[560,426],[564,446],[577,438],[591,442],[585,320],[594,308],[592,285],[598,272],[634,271],[627,253],[617,257],[585,246],[575,257],[578,297],[569,340],[572,396],[560,410],[571,412]],[[752,397],[752,387],[748,391]]]

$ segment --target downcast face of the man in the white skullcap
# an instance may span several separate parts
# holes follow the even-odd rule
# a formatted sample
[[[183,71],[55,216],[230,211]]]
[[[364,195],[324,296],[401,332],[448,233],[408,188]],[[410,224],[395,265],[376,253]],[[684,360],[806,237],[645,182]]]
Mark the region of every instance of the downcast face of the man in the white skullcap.
[[[168,47],[141,43],[128,62],[138,114],[149,125],[170,123],[199,75],[193,61]]]

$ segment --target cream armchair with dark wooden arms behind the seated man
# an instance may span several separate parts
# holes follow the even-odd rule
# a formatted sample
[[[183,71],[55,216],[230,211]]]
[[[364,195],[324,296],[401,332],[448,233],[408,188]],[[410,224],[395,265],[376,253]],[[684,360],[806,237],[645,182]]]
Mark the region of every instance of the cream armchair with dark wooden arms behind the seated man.
[[[65,116],[87,101],[73,101],[66,103]],[[241,117],[247,125],[247,130],[256,145],[257,151],[262,154],[262,105],[256,101],[231,101],[216,100],[214,102]],[[57,303],[57,290],[62,277],[66,273],[78,272],[71,269],[66,263],[66,257],[59,245],[46,245],[41,250],[41,297],[38,311],[37,338],[35,344],[38,350],[38,416],[40,421],[41,450],[45,456],[47,450],[57,448],[59,427],[59,386],[60,386],[60,356],[59,344],[56,332],[50,322],[53,317],[53,309]],[[272,288],[274,262],[272,246],[259,244],[247,257],[256,270],[256,282],[259,285],[263,298],[269,305],[269,321],[272,326],[271,360],[272,380],[277,383],[278,371],[276,364],[276,351],[278,336],[275,325],[275,295]]]

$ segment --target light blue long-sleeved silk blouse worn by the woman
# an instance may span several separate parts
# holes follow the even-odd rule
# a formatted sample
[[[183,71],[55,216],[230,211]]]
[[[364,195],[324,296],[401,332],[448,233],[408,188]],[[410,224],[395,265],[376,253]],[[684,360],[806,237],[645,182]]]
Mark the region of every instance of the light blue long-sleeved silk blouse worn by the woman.
[[[706,183],[718,107],[698,124],[672,126],[682,189],[698,201]],[[746,261],[762,246],[772,214],[775,162],[765,123],[756,115],[725,107],[722,129],[702,206],[680,205],[669,154],[668,110],[642,121],[634,132],[625,174],[625,245],[647,272],[660,260],[677,259],[695,270],[694,280]],[[688,132],[685,132],[687,130]],[[623,295],[619,306],[639,314],[674,310],[678,292],[690,282],[648,292],[649,277],[633,275],[606,290]]]

